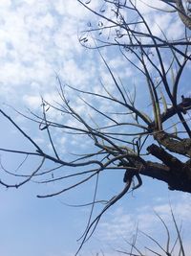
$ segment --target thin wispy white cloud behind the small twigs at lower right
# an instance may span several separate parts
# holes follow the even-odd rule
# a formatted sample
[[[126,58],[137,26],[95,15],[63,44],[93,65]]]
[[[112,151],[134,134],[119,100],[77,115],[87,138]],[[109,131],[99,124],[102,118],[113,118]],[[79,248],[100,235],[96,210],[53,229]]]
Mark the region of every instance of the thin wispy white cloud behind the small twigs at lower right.
[[[155,202],[153,206],[149,203],[145,204],[143,207],[133,209],[133,211],[132,209],[129,209],[127,213],[124,206],[117,207],[113,213],[106,214],[109,215],[107,219],[104,218],[104,221],[99,223],[98,229],[100,230],[98,232],[98,237],[107,243],[117,243],[124,238],[127,239],[127,241],[130,241],[133,234],[136,233],[136,228],[138,226],[138,230],[154,236],[156,239],[159,238],[161,243],[165,244],[166,233],[159,217],[155,214],[156,211],[168,226],[171,238],[174,239],[174,237],[176,237],[176,229],[170,213],[170,205],[166,202],[165,198],[162,198],[162,201],[163,202],[159,200],[158,203]],[[171,205],[178,226],[182,223],[184,234],[183,243],[185,244],[185,248],[188,248],[190,246],[188,245],[188,242],[190,239],[189,226],[191,224],[191,204],[189,195],[179,195],[178,197],[172,198]],[[156,230],[158,230],[158,233],[156,233]],[[145,245],[147,242],[148,241],[142,237],[141,244]]]

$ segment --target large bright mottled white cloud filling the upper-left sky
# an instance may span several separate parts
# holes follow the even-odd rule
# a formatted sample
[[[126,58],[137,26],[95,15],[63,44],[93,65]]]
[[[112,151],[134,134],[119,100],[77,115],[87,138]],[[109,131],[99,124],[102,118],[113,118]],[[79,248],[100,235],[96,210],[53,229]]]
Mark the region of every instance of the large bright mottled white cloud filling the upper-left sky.
[[[40,93],[50,91],[55,86],[54,71],[74,84],[90,77],[72,60],[81,58],[83,49],[77,42],[77,30],[78,11],[84,9],[77,1],[3,1],[1,5],[0,88],[4,99],[16,102],[19,92],[25,104],[27,98],[34,100],[37,96],[30,95],[31,85],[40,84]],[[60,5],[63,11],[57,15],[62,10]]]

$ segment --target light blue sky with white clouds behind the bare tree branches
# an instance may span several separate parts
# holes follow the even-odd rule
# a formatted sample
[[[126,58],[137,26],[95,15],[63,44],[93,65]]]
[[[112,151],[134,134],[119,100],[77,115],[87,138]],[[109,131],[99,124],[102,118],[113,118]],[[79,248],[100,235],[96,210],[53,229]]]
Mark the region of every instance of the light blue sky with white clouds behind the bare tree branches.
[[[91,7],[96,8],[98,4],[99,1],[92,1]],[[160,35],[159,28],[162,27],[164,31],[168,29],[168,36],[180,36],[182,24],[177,16],[171,16],[167,12],[150,13],[150,9],[143,4],[140,4],[139,8],[145,15],[148,16],[149,13],[152,30],[157,35]],[[173,23],[172,18],[175,18]],[[17,114],[12,107],[29,114],[29,109],[39,111],[41,96],[51,103],[59,101],[56,75],[61,81],[74,87],[92,87],[96,92],[100,90],[98,81],[110,84],[110,77],[96,51],[84,48],[78,40],[80,32],[86,28],[89,20],[94,21],[92,13],[87,12],[75,0],[0,1],[0,107],[32,134],[32,138],[39,145],[47,147],[48,151],[51,150],[50,145],[46,144],[46,135],[39,133],[36,124]],[[108,63],[121,79],[136,81],[134,69],[124,66],[117,52],[104,51]],[[188,82],[185,82],[185,86],[189,89]],[[85,106],[80,105],[78,98],[74,98],[75,95],[70,94],[70,97],[79,113],[86,112]],[[112,109],[111,105],[101,104],[108,110]],[[53,120],[61,120],[56,113],[51,112],[51,115]],[[1,148],[30,149],[31,145],[3,116],[0,116],[0,122]],[[55,132],[53,137],[63,155],[76,146],[80,152],[89,149],[88,147],[92,149],[89,142],[80,141],[74,136],[69,139],[59,131]],[[20,160],[21,158],[13,154],[1,152],[1,162],[9,171],[16,170]],[[25,172],[30,172],[36,164],[35,159],[28,159],[23,168]],[[4,177],[3,171],[1,175]],[[100,195],[108,198],[108,195],[117,194],[123,188],[121,177],[122,174],[103,177]],[[66,204],[90,201],[94,184],[95,180],[79,190],[74,189],[59,197],[43,199],[36,198],[36,195],[56,191],[57,185],[31,182],[17,190],[0,187],[1,254],[74,255],[79,245],[77,240],[88,221],[90,208],[69,207]],[[166,184],[143,178],[143,185],[138,191],[122,198],[104,215],[94,236],[84,245],[80,255],[101,255],[101,251],[106,256],[119,255],[115,250],[127,249],[125,241],[131,240],[137,226],[142,231],[163,239],[165,233],[155,212],[169,223],[174,232],[169,204],[173,207],[178,223],[182,223],[185,247],[187,250],[191,249],[190,196],[186,193],[170,192]]]

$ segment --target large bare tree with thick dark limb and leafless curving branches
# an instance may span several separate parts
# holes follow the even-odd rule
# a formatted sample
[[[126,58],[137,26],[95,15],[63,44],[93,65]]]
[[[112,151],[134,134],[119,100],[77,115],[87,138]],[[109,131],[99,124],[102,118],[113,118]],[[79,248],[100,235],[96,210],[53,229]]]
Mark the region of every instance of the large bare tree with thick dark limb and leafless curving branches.
[[[163,4],[161,10],[147,5],[154,12],[179,13],[181,32],[171,39],[163,28],[158,27],[156,34],[150,28],[148,16],[138,8],[141,1],[103,0],[98,10],[91,8],[91,1],[78,2],[98,18],[96,25],[88,22],[88,28],[81,33],[79,41],[87,48],[96,49],[113,81],[113,87],[102,84],[101,93],[94,89],[82,90],[64,85],[57,76],[61,102],[53,105],[42,98],[42,114],[32,113],[32,116],[26,116],[37,123],[40,130],[47,132],[53,153],[42,149],[32,136],[0,109],[0,113],[33,147],[33,151],[0,151],[34,156],[40,160],[40,164],[30,175],[17,175],[4,170],[16,180],[10,184],[9,180],[1,179],[0,184],[7,188],[18,188],[33,178],[39,178],[41,183],[73,178],[74,183],[69,187],[53,194],[37,196],[48,198],[86,184],[96,177],[93,213],[99,202],[96,200],[98,179],[106,171],[124,170],[124,189],[106,202],[95,220],[92,220],[91,214],[82,239],[83,244],[94,232],[102,214],[130,188],[138,189],[142,183],[142,175],[167,183],[170,190],[191,193],[191,98],[186,94],[189,83],[184,85],[184,82],[189,81],[186,71],[190,68],[191,60],[191,18],[190,1],[183,4],[181,0],[163,0],[160,1]],[[116,47],[118,54],[132,66],[141,84],[124,84],[117,78],[102,52],[102,48],[112,47]],[[142,90],[147,92],[145,103],[140,102],[139,94]],[[74,93],[81,95],[78,99],[94,112],[94,117],[87,115],[87,112],[77,112],[71,101]],[[91,97],[93,100],[90,100]],[[99,107],[100,102],[112,105],[116,111],[108,112]],[[50,111],[61,114],[63,122],[53,120],[49,115]],[[89,141],[91,152],[87,148],[81,155],[61,155],[53,141],[53,130],[62,130],[65,134]],[[44,171],[44,166],[50,162],[54,166]],[[64,170],[67,167],[72,168],[69,175],[55,174],[57,169]],[[135,178],[138,181],[136,185],[133,182]]]

